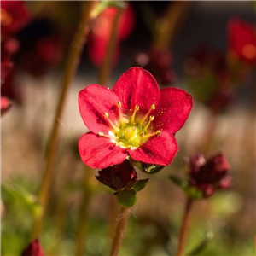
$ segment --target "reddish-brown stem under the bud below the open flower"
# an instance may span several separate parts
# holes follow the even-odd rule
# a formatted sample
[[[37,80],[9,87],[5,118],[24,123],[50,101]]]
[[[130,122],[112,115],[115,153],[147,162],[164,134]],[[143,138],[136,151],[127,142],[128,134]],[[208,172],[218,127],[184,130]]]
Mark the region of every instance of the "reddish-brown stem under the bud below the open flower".
[[[113,236],[113,244],[112,244],[110,256],[118,256],[119,254],[119,248],[121,247],[121,243],[125,235],[125,227],[127,224],[128,217],[129,217],[129,208],[121,207],[118,223]]]

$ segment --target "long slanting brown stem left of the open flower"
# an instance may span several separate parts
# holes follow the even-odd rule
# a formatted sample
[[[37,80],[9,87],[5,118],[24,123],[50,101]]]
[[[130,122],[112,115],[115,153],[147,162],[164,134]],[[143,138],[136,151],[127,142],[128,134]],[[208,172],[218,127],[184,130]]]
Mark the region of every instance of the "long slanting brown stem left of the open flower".
[[[49,201],[49,190],[54,174],[55,156],[58,148],[62,114],[67,99],[67,92],[79,65],[79,58],[84,46],[84,41],[89,32],[90,9],[93,2],[93,0],[84,0],[84,6],[82,9],[79,25],[77,31],[74,34],[73,43],[71,44],[69,53],[67,55],[66,68],[64,70],[63,79],[61,81],[61,96],[59,98],[52,131],[49,137],[49,143],[46,151],[46,166],[44,169],[42,183],[38,192],[38,201],[40,202],[42,209],[38,215],[35,216],[32,226],[32,239],[39,236],[44,222],[44,214]]]

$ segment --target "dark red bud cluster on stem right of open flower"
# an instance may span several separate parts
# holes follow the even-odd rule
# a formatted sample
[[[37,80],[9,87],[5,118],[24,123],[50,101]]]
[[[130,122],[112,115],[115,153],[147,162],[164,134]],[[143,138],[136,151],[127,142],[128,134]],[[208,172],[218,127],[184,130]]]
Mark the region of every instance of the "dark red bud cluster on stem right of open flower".
[[[215,189],[228,189],[231,185],[230,164],[224,154],[216,154],[205,160],[202,154],[190,158],[190,185],[201,190],[204,197],[212,195]]]

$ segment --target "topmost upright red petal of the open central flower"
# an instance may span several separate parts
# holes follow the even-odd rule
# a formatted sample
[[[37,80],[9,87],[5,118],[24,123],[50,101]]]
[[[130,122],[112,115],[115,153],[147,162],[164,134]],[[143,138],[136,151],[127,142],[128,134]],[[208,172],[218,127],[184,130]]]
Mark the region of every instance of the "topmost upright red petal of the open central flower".
[[[136,105],[140,110],[149,109],[152,104],[157,105],[160,99],[154,77],[141,67],[131,67],[123,73],[114,84],[113,91],[125,109],[133,109]]]

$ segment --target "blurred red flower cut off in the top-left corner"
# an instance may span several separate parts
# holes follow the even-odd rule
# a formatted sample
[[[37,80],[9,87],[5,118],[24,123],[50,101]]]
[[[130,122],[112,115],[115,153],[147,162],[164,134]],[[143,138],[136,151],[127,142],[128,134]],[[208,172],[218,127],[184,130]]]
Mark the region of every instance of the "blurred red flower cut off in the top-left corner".
[[[0,41],[19,32],[30,19],[23,0],[0,0]]]

